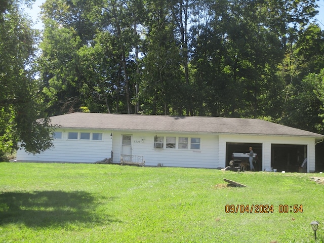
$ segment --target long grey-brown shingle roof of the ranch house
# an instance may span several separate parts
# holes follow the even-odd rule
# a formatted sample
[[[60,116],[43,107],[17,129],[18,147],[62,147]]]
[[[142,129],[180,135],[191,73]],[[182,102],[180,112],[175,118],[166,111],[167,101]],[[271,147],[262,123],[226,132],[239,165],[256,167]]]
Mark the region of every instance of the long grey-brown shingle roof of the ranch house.
[[[246,118],[71,113],[52,116],[51,120],[53,125],[77,129],[324,137],[265,120]]]

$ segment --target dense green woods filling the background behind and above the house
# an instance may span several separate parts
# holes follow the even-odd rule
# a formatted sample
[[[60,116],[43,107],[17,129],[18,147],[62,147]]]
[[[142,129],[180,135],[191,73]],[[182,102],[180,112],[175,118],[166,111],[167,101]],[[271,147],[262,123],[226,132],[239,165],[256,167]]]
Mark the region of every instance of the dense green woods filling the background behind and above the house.
[[[256,117],[324,132],[316,0],[46,0],[36,66],[19,2],[0,3],[1,151],[50,146],[42,103],[49,115]]]

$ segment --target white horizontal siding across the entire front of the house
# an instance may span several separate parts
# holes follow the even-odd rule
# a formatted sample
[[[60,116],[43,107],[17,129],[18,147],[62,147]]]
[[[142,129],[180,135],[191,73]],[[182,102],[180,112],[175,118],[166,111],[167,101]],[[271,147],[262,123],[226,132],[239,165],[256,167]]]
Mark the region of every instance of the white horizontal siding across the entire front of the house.
[[[54,136],[57,135],[57,138],[53,140],[54,147],[35,155],[19,149],[17,161],[94,163],[109,158],[112,150],[113,163],[119,163],[123,135],[132,134],[132,140],[129,140],[133,141],[132,154],[143,156],[146,166],[163,164],[169,167],[225,168],[226,143],[260,143],[262,171],[271,166],[272,144],[307,145],[307,170],[315,170],[315,142],[314,138],[310,137],[160,132],[156,137],[159,137],[157,140],[161,148],[157,149],[153,146],[156,143],[156,132],[99,129],[66,131],[63,128],[55,132]],[[80,139],[81,133],[90,134],[90,139]],[[61,138],[58,138],[60,135]],[[76,139],[69,139],[69,135],[76,135]],[[192,149],[193,147],[195,149]]]

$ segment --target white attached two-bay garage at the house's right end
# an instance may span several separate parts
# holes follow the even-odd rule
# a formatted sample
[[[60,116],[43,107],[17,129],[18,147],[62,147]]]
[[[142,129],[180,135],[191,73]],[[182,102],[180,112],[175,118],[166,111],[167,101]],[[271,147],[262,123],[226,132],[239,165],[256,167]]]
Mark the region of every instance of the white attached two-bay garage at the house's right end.
[[[273,135],[266,129],[260,129],[264,134],[256,135],[229,135],[223,134],[219,136],[219,161],[224,159],[224,167],[228,165],[231,159],[232,150],[239,147],[253,147],[253,151],[258,153],[258,158],[261,163],[256,165],[256,170],[264,171],[271,168],[277,169],[278,172],[285,170],[287,172],[298,172],[299,165],[307,157],[307,168],[305,172],[315,171],[315,144],[322,141],[322,135],[318,137],[308,137],[313,133],[293,129],[285,126],[276,125],[280,129],[287,129],[286,133],[292,135]],[[271,129],[273,133],[274,130]],[[279,133],[278,131],[276,131]],[[281,132],[281,131],[280,131]],[[293,134],[295,132],[295,135]],[[284,131],[282,131],[284,133]],[[305,135],[298,136],[296,133],[304,133]],[[314,134],[313,134],[314,135]],[[247,146],[248,145],[248,146]],[[253,146],[254,145],[254,146]],[[261,149],[262,148],[262,149]],[[222,150],[224,154],[222,155]],[[261,150],[261,151],[260,151]],[[222,158],[222,156],[224,156]]]

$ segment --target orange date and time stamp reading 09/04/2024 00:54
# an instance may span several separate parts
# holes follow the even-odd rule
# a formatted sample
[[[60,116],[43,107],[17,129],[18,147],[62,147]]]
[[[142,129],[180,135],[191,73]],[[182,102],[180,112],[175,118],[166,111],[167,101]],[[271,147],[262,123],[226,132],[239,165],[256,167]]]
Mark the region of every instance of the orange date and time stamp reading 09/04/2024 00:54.
[[[270,204],[226,204],[225,205],[225,213],[227,214],[237,214],[237,213],[255,213],[255,214],[269,214],[278,212],[280,214],[284,213],[303,213],[303,205],[302,204],[280,204],[278,207],[274,207]]]

